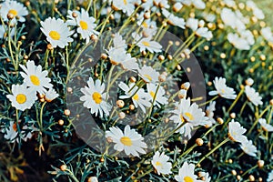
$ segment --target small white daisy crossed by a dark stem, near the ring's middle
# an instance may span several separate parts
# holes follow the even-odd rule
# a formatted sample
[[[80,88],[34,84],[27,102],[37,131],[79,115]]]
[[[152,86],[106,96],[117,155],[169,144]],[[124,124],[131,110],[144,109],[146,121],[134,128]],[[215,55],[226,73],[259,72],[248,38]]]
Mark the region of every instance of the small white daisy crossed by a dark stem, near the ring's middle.
[[[150,94],[150,100],[155,100],[154,106],[167,105],[166,91],[162,86],[150,83],[147,85],[147,92]]]

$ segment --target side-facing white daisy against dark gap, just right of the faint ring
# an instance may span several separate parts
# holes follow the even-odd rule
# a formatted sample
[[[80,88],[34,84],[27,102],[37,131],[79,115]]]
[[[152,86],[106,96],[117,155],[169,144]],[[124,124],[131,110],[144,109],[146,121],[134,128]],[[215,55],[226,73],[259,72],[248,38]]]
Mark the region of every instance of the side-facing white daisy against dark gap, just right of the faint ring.
[[[234,89],[226,85],[226,78],[216,77],[213,83],[217,90],[210,91],[208,93],[209,96],[219,95],[227,99],[236,98],[237,95],[235,94]]]

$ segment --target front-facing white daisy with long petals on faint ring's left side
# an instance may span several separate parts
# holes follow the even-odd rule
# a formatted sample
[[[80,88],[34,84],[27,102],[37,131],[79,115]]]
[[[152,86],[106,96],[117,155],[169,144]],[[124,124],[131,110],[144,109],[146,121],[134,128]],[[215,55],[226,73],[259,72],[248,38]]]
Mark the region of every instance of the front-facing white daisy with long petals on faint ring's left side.
[[[94,83],[94,80],[89,77],[87,85],[81,88],[81,92],[85,96],[81,96],[80,100],[84,102],[84,106],[90,108],[91,114],[95,113],[97,116],[99,113],[99,116],[103,116],[105,113],[108,116],[111,106],[106,102],[106,93],[103,93],[105,84],[101,83],[99,79]]]

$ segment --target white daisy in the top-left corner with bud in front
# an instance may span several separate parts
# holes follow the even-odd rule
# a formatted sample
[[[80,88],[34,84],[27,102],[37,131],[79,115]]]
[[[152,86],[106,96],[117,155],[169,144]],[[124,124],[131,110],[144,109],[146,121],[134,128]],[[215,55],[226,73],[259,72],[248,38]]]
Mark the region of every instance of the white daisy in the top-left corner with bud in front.
[[[1,4],[0,15],[2,16],[4,21],[8,21],[7,15],[12,14],[15,16],[11,20],[11,23],[15,24],[16,20],[19,22],[25,22],[25,15],[28,15],[28,11],[26,7],[12,0],[5,0],[3,4]]]

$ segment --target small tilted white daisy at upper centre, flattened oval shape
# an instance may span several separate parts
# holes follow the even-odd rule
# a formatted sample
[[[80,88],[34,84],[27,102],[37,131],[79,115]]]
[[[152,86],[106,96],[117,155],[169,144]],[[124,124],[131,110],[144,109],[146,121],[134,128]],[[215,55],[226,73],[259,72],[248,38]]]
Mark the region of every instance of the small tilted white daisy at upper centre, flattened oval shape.
[[[136,40],[137,41],[137,40]],[[148,50],[151,53],[161,52],[162,45],[157,43],[157,41],[151,40],[151,37],[141,38],[137,41],[136,45],[140,48],[140,51]]]

